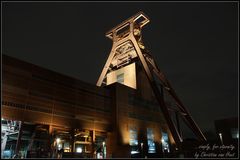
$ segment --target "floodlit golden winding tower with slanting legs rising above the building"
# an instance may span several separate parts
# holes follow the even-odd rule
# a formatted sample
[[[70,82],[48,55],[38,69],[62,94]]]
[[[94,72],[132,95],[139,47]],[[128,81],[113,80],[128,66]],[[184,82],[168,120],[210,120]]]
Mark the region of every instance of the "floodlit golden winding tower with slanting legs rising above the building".
[[[200,128],[177,96],[164,73],[159,69],[149,50],[146,49],[143,44],[142,28],[149,22],[150,20],[147,15],[139,12],[106,33],[106,37],[113,41],[113,45],[107,62],[97,81],[97,86],[109,85],[118,81],[123,85],[138,89],[137,83],[139,83],[139,81],[136,76],[139,70],[135,68],[135,64],[142,66],[152,93],[161,108],[176,144],[180,144],[183,141],[178,117],[182,118],[183,122],[187,124],[200,141],[205,141],[206,138]],[[129,72],[129,70],[133,68],[131,67],[133,65],[133,71]],[[118,72],[123,73],[117,74]],[[124,72],[129,72],[128,76],[124,77]],[[130,78],[132,79],[130,80]],[[141,90],[141,88],[139,89]],[[166,99],[170,101],[171,105],[169,105],[169,101]],[[172,119],[172,112],[176,115],[177,124],[175,124]]]

